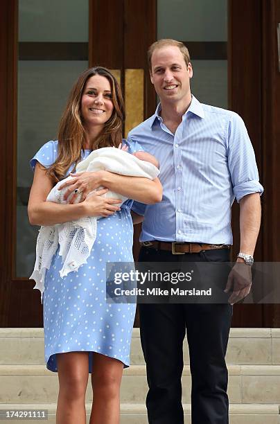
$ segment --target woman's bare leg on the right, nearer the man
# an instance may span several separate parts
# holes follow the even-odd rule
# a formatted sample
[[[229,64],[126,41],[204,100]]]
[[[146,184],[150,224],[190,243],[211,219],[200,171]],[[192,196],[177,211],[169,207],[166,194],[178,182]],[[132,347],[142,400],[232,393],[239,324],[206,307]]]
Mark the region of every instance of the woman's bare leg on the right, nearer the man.
[[[123,362],[94,353],[91,384],[94,391],[89,424],[119,424]]]

